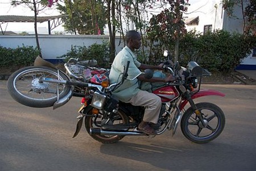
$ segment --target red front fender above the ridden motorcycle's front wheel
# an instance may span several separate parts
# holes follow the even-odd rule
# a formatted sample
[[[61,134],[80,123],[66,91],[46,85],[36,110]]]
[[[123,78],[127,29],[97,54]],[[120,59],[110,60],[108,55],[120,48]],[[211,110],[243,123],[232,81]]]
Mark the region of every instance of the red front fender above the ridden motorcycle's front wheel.
[[[197,90],[196,90],[197,91]],[[217,90],[210,90],[210,89],[202,89],[200,90],[199,92],[193,94],[191,96],[192,99],[195,99],[195,98],[199,98],[199,97],[204,97],[204,96],[207,96],[207,95],[218,95],[218,96],[221,96],[221,97],[225,97],[225,94],[224,93],[221,93],[220,91],[217,91]],[[184,99],[180,105],[179,105],[179,109],[180,110],[183,110],[183,108],[185,107],[185,105],[187,105],[188,103],[188,100],[187,99]]]

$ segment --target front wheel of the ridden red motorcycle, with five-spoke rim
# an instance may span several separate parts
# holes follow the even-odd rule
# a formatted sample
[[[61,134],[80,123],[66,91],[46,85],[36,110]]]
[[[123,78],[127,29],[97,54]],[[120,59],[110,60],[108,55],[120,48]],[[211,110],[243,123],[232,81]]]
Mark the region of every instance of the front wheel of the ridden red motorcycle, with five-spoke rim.
[[[208,143],[216,139],[223,131],[225,116],[220,107],[212,103],[197,103],[196,107],[203,115],[206,126],[203,126],[195,111],[189,107],[181,119],[181,131],[187,139],[195,143]]]

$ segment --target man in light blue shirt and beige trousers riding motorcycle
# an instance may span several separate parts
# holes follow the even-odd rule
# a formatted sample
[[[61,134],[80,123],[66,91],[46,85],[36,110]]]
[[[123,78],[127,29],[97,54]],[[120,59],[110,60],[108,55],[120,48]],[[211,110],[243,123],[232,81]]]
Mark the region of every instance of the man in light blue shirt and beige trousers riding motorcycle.
[[[112,64],[110,70],[109,79],[110,84],[121,81],[119,78],[120,73],[123,73],[123,68],[127,61],[130,61],[130,66],[128,69],[128,79],[125,80],[121,86],[113,91],[113,94],[122,102],[131,103],[134,106],[145,106],[145,112],[142,122],[138,126],[138,130],[144,132],[147,135],[154,135],[155,130],[150,126],[149,123],[157,123],[162,102],[160,97],[155,94],[149,93],[148,91],[143,91],[139,89],[139,81],[144,82],[170,82],[174,81],[174,77],[169,76],[166,78],[152,77],[146,79],[141,70],[144,69],[162,69],[163,64],[158,66],[141,64],[137,61],[134,55],[134,49],[139,49],[141,47],[141,35],[137,31],[128,31],[125,37],[126,47],[120,51]]]

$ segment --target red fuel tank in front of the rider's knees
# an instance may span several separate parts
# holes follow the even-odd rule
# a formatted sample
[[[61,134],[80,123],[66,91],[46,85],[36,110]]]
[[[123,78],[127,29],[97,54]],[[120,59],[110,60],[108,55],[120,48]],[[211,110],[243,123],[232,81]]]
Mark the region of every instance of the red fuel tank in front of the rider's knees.
[[[152,93],[158,95],[162,102],[170,102],[179,96],[179,91],[175,87],[166,86],[154,90]]]

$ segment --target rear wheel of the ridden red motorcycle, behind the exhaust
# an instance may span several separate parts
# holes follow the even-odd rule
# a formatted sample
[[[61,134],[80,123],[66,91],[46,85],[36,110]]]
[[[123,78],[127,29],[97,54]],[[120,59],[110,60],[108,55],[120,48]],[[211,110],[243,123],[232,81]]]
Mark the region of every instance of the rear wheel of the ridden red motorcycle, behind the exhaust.
[[[88,115],[93,115],[92,110],[88,112]],[[85,118],[85,128],[88,134],[90,134],[90,128],[100,128],[103,124],[107,122],[108,119],[104,119],[102,114],[94,115],[94,116],[86,116]],[[108,124],[110,125],[118,125],[118,124],[128,124],[129,123],[129,118],[122,112],[118,111],[116,115],[112,117],[110,122],[108,121]],[[112,144],[116,143],[117,141],[121,140],[124,136],[120,135],[90,135],[93,137],[93,139],[104,143],[104,144]]]

